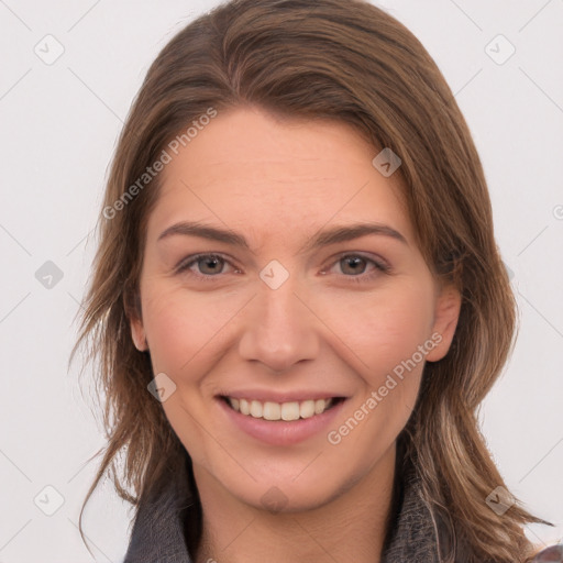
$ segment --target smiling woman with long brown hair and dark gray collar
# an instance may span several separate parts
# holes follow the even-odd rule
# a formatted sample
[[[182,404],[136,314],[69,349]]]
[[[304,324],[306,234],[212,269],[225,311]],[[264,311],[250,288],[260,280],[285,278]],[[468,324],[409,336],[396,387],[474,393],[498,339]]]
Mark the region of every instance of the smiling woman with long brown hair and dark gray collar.
[[[111,467],[128,563],[561,561],[477,428],[514,329],[483,169],[418,40],[357,0],[225,3],[158,55],[112,164],[86,501]]]

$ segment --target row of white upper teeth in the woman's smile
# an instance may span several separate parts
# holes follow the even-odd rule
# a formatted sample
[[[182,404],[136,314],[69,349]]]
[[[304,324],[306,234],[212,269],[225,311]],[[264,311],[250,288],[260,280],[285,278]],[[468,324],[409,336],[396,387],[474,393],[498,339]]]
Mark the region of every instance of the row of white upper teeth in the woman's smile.
[[[242,415],[265,420],[299,420],[322,415],[332,404],[333,399],[309,399],[301,402],[261,402],[260,400],[235,399],[228,397],[229,405]]]

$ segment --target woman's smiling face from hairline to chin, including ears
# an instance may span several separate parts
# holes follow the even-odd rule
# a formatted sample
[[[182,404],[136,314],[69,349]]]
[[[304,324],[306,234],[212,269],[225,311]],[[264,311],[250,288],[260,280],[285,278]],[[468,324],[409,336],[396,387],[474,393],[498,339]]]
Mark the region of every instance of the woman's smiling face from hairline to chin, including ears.
[[[376,478],[460,307],[415,244],[399,175],[343,123],[256,108],[177,153],[131,327],[198,486],[302,510]]]

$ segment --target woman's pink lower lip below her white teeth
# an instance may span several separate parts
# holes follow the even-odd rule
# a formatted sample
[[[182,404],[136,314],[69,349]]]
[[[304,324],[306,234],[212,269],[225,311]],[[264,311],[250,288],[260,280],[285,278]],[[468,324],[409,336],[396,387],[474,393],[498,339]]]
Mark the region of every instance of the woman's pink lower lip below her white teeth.
[[[322,415],[299,420],[265,420],[250,415],[241,415],[233,410],[227,401],[218,398],[220,408],[228,417],[228,423],[235,424],[243,432],[261,442],[271,445],[291,445],[314,437],[332,424],[334,418],[342,410],[345,400],[325,410]]]

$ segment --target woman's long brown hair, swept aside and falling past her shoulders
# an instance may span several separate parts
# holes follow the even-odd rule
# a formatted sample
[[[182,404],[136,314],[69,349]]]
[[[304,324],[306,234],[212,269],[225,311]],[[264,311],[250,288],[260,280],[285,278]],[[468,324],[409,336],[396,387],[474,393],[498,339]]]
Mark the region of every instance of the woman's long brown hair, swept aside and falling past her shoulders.
[[[340,120],[374,150],[389,147],[400,156],[398,174],[421,252],[463,298],[451,349],[426,365],[401,433],[406,462],[432,512],[448,523],[451,550],[443,561],[528,561],[532,548],[521,527],[543,520],[519,503],[503,516],[485,503],[505,484],[478,430],[477,408],[514,344],[516,302],[494,239],[482,165],[424,47],[362,0],[234,0],[187,25],[150,67],[112,162],[103,206],[113,211],[100,218],[71,355],[88,344],[86,360],[98,361],[96,380],[106,394],[108,445],[84,505],[108,468],[119,495],[137,505],[186,460],[147,391],[150,355],[134,347],[129,324],[141,316],[139,277],[159,177],[134,190],[134,198],[123,196],[209,108],[221,113],[242,104],[302,120]],[[120,454],[123,478],[114,465]]]

